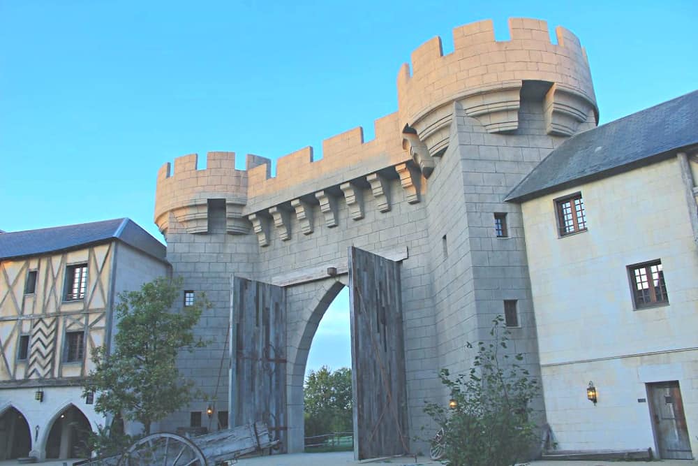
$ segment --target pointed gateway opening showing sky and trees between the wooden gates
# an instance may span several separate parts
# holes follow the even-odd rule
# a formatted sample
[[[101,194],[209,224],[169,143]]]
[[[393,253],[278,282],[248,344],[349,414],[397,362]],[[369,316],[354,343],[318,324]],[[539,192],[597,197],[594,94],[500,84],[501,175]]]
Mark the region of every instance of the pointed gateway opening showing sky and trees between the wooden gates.
[[[353,449],[349,290],[337,289],[330,289],[315,310],[324,313],[305,365],[304,445],[309,453]],[[332,302],[326,305],[327,300]]]

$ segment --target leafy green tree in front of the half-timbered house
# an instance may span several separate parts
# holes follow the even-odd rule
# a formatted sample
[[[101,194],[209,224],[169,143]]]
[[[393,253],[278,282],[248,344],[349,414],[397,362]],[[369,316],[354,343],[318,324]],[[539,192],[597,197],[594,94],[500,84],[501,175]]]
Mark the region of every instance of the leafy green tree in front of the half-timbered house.
[[[181,299],[181,285],[181,278],[159,277],[140,291],[119,293],[114,347],[93,351],[95,368],[84,386],[85,394],[97,394],[96,412],[138,421],[145,435],[151,423],[186,405],[195,393],[175,361],[179,351],[205,346],[192,328],[211,304],[202,294],[192,306],[172,312],[175,300]]]

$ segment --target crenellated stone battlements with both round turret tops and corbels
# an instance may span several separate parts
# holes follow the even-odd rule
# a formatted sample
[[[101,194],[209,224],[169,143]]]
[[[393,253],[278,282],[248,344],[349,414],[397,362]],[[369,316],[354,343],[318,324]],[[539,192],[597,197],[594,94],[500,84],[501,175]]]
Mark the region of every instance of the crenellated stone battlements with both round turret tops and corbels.
[[[418,202],[419,177],[429,177],[433,157],[447,146],[454,103],[484,131],[510,133],[519,127],[524,81],[541,82],[537,86],[545,95],[538,101],[548,134],[570,136],[595,119],[591,73],[579,39],[558,27],[553,44],[540,20],[510,19],[509,29],[510,41],[496,41],[489,20],[456,27],[454,52],[447,55],[439,37],[420,45],[411,56],[411,73],[408,64],[399,71],[398,111],[376,119],[373,140],[364,141],[360,126],[350,129],[322,142],[320,160],[313,159],[312,147],[279,157],[275,177],[271,161],[255,155],[246,156],[246,170],[236,170],[233,152],[209,152],[202,170],[196,154],[175,159],[174,170],[165,163],[158,171],[156,224],[165,233],[173,215],[188,233],[205,233],[209,200],[224,199],[228,233],[252,227],[261,244],[265,221],[285,228],[288,212],[301,221],[308,203],[319,203],[327,226],[336,225],[333,196],[344,196],[352,218],[362,218],[357,187],[370,186],[383,196],[387,172],[410,190],[410,202]],[[389,209],[383,201],[382,208]]]

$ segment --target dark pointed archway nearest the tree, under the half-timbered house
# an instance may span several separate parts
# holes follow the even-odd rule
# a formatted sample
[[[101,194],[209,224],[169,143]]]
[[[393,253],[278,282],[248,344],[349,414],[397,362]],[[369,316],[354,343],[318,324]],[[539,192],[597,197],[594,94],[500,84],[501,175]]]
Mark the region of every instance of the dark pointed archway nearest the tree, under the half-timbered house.
[[[51,426],[46,442],[46,458],[82,458],[91,427],[80,409],[70,405],[59,414]]]

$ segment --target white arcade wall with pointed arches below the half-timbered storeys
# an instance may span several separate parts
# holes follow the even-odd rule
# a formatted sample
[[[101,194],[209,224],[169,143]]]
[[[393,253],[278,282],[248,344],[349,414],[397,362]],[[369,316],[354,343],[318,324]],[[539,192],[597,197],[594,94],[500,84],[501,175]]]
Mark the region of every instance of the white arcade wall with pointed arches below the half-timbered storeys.
[[[43,459],[46,456],[46,442],[56,418],[70,405],[87,418],[96,430],[105,425],[105,418],[94,411],[94,405],[87,405],[82,398],[82,387],[43,387],[43,401],[34,399],[36,388],[4,388],[0,391],[0,413],[14,407],[24,415],[31,430],[31,455]],[[38,426],[38,431],[36,427]]]

